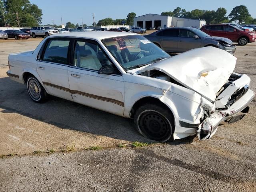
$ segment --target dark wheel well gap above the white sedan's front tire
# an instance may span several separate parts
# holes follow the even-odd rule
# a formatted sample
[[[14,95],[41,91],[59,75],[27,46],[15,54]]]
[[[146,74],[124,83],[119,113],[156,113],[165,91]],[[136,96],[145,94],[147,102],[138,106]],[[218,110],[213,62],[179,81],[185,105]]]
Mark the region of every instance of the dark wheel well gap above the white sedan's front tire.
[[[141,98],[140,100],[136,101],[136,103],[132,106],[132,109],[130,111],[130,118],[134,117],[134,113],[135,111],[142,105],[144,104],[157,104],[158,106],[161,106],[162,108],[165,108],[166,110],[170,111],[170,113],[172,114],[172,111],[170,110],[170,108],[168,108],[166,106],[166,104],[164,104],[163,102],[161,102],[159,99],[154,98],[154,97],[144,97]],[[172,114],[173,116],[173,114]],[[174,118],[174,116],[173,116]]]

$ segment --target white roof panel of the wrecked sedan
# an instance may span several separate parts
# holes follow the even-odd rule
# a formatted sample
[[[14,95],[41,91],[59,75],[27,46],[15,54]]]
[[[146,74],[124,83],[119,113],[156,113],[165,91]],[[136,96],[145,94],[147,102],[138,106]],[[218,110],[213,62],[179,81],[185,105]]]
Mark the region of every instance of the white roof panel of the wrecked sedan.
[[[54,37],[78,37],[78,38],[90,38],[95,40],[102,40],[112,37],[136,35],[132,33],[121,33],[121,32],[108,32],[108,31],[85,31],[85,32],[72,32],[72,33],[59,33],[51,35],[51,38]]]

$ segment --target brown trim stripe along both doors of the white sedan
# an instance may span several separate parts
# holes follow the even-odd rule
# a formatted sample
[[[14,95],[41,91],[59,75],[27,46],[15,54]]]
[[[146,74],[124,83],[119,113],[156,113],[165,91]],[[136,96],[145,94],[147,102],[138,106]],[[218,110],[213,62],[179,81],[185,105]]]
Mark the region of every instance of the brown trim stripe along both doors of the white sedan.
[[[50,87],[54,87],[54,88],[57,88],[57,89],[60,89],[60,90],[64,90],[66,92],[70,92],[71,94],[78,94],[78,95],[94,98],[94,99],[97,99],[97,100],[111,102],[111,103],[120,105],[122,107],[124,106],[124,102],[118,101],[116,99],[102,97],[102,96],[98,96],[98,95],[93,95],[93,94],[89,94],[89,93],[78,91],[78,90],[70,90],[69,88],[58,86],[58,85],[51,84],[51,83],[48,83],[48,82],[43,82],[43,84],[46,85],[46,86],[50,86]]]

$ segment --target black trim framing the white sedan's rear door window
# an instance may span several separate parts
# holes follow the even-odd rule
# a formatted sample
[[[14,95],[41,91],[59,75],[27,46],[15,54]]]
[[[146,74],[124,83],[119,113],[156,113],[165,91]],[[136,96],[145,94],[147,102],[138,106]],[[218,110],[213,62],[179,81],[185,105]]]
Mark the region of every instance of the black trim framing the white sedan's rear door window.
[[[46,42],[44,42],[42,48],[40,49],[38,56],[37,56],[37,60],[41,61],[41,62],[48,62],[48,63],[52,63],[52,64],[61,64],[61,65],[66,65],[66,66],[70,66],[71,64],[71,60],[70,60],[70,48],[71,48],[71,44],[72,44],[72,40],[73,38],[61,38],[61,37],[57,37],[57,38],[49,38]],[[44,61],[42,58],[44,58],[44,53],[46,51],[46,48],[49,44],[49,42],[51,40],[69,40],[69,44],[68,44],[68,54],[67,54],[67,60],[68,60],[68,64],[63,64],[63,63],[56,63],[56,62],[50,62],[50,61]]]

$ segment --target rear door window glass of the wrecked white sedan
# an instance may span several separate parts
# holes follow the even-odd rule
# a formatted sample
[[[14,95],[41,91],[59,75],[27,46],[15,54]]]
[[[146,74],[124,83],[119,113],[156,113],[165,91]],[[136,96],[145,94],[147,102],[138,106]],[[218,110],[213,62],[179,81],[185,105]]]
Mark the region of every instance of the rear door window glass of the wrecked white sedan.
[[[44,61],[68,64],[68,39],[52,39],[46,45],[43,59]]]

